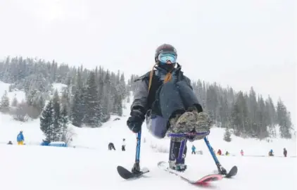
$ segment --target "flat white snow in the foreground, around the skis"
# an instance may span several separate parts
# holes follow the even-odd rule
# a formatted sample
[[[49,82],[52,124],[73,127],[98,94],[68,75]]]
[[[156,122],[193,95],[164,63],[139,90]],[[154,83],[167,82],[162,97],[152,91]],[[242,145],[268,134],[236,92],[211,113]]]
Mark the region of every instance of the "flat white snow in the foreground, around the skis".
[[[141,165],[151,172],[141,179],[125,181],[118,176],[116,166],[132,167],[132,150],[108,152],[103,149],[0,145],[0,151],[4,153],[0,162],[0,189],[197,189],[156,167],[158,160],[168,158],[167,154],[142,150]],[[292,167],[296,164],[295,158],[225,157],[220,160],[227,168],[238,165],[239,173],[234,179],[215,183],[214,189],[296,189],[296,173]],[[187,161],[190,163],[187,174],[193,179],[215,170],[209,156],[189,155]]]

